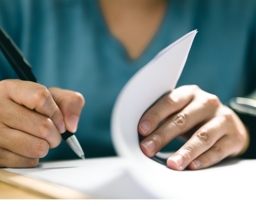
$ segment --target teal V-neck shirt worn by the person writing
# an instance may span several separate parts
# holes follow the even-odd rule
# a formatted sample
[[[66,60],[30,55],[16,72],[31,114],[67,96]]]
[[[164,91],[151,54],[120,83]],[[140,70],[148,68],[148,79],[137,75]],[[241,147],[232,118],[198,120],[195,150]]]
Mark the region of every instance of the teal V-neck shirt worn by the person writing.
[[[96,0],[0,0],[6,29],[47,87],[85,97],[76,136],[85,157],[115,155],[110,115],[129,78],[161,49],[198,29],[178,86],[199,85],[223,103],[256,88],[256,1],[172,0],[147,48],[131,59]],[[17,78],[0,54],[0,79]],[[171,142],[178,149],[182,143]],[[43,159],[76,158],[62,142]]]

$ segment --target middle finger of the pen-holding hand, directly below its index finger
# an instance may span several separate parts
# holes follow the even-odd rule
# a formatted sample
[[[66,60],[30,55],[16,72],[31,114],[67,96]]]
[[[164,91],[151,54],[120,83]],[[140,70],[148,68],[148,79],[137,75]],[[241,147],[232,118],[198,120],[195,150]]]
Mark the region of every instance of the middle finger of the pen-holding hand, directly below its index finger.
[[[0,114],[0,121],[6,126],[43,138],[50,148],[57,147],[61,142],[61,135],[53,121],[38,112],[6,99],[0,102]]]

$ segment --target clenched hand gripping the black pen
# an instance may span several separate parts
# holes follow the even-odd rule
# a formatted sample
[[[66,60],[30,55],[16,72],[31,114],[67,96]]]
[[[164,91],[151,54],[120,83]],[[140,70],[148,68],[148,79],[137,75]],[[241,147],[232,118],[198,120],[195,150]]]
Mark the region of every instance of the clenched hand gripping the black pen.
[[[60,133],[76,131],[84,103],[77,92],[0,81],[0,167],[35,167],[60,144]]]

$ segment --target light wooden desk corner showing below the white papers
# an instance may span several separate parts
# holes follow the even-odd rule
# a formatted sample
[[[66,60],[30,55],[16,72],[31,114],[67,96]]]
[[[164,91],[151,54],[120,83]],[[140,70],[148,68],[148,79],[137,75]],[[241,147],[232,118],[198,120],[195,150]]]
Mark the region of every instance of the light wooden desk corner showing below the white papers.
[[[0,169],[0,199],[90,199],[75,190]]]

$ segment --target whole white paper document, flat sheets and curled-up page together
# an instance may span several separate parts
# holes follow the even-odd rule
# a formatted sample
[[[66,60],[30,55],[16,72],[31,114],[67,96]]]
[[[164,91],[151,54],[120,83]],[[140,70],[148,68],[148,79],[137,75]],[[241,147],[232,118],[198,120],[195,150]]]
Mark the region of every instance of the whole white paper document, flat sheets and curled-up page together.
[[[30,169],[5,169],[96,198],[253,196],[254,190],[249,186],[256,182],[256,160],[224,160],[203,170],[174,171],[146,157],[140,150],[139,119],[157,99],[175,88],[196,33],[197,30],[191,31],[160,51],[118,95],[111,117],[111,136],[118,157],[43,163]]]

